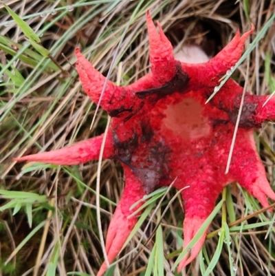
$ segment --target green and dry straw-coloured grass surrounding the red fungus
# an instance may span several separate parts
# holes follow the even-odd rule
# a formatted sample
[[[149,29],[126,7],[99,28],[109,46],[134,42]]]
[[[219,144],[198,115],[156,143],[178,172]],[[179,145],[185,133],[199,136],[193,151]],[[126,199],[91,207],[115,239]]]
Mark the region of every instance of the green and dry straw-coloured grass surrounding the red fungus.
[[[101,109],[96,112],[96,105],[81,88],[74,69],[75,47],[80,46],[94,67],[108,74],[111,81],[127,85],[149,70],[146,10],[162,23],[165,32],[190,28],[189,36],[179,38],[188,43],[202,33],[201,27],[192,29],[192,21],[206,24],[206,32],[219,34],[214,52],[230,41],[237,26],[245,32],[251,21],[256,32],[234,67],[234,78],[239,83],[248,79],[248,89],[256,94],[274,92],[275,1],[238,1],[235,6],[229,0],[189,2],[5,1],[14,13],[0,3],[3,275],[95,275],[104,260],[100,235],[106,236],[122,193],[120,165],[102,160],[101,164],[58,167],[12,160],[104,132],[107,114]],[[246,67],[251,68],[248,76]],[[266,123],[255,136],[273,184],[273,124]],[[98,164],[100,181],[96,187]],[[170,271],[177,275],[175,266],[212,220],[199,263],[188,266],[186,275],[275,274],[275,216],[262,210],[239,185],[224,189],[216,208],[184,251],[180,247],[184,214],[176,192],[159,189],[148,195],[144,211],[124,244],[122,259],[114,262],[107,275],[124,271],[123,275],[162,276]]]

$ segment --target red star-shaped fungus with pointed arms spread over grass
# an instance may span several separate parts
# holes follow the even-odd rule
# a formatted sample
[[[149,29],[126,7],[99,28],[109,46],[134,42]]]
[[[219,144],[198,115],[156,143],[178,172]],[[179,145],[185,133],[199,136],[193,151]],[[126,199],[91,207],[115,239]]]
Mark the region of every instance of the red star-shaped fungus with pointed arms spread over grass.
[[[180,63],[173,47],[147,13],[151,72],[126,87],[107,81],[101,107],[112,117],[103,158],[119,160],[124,168],[125,189],[111,220],[106,250],[109,262],[118,255],[137,222],[130,207],[157,187],[184,189],[182,194],[184,245],[214,209],[225,185],[236,180],[268,206],[275,200],[265,169],[254,145],[253,129],[275,118],[274,100],[263,107],[267,96],[245,94],[229,173],[225,174],[243,88],[229,79],[219,93],[205,104],[219,79],[239,60],[245,39],[253,32],[236,36],[206,63]],[[105,78],[76,49],[76,68],[83,88],[98,103]],[[80,164],[98,159],[102,136],[71,147],[38,153],[15,160],[53,164]],[[179,264],[179,270],[194,259],[206,233]],[[103,264],[98,272],[106,270]]]

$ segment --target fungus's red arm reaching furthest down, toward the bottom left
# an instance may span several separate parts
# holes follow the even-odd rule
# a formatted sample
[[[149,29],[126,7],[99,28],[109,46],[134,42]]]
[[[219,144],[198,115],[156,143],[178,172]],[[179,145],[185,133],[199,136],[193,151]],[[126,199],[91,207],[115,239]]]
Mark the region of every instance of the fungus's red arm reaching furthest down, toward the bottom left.
[[[129,237],[133,227],[137,222],[137,215],[129,217],[135,210],[137,210],[141,204],[131,209],[131,206],[142,199],[145,195],[144,189],[142,188],[142,182],[135,177],[133,171],[124,165],[125,175],[125,188],[122,194],[122,198],[115,213],[111,219],[111,223],[108,229],[106,238],[106,251],[109,262],[112,262],[118,253],[122,249],[124,242]],[[101,276],[107,270],[107,265],[104,262],[98,271],[97,276]]]

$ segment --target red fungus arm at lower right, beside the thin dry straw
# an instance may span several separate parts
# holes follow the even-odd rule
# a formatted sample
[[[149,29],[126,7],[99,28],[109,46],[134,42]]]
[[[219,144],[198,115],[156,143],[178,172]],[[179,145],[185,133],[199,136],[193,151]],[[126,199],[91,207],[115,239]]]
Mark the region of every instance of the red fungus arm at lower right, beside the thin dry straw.
[[[265,168],[256,151],[253,130],[238,130],[230,173],[241,187],[247,189],[264,207],[269,205],[267,197],[275,200],[275,193],[267,181]]]

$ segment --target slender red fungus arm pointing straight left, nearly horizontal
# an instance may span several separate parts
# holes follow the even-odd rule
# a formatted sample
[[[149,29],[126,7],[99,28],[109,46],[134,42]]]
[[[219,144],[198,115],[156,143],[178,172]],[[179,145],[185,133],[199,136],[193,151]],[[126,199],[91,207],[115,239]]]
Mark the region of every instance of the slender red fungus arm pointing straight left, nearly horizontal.
[[[56,149],[54,151],[32,154],[21,158],[14,158],[16,161],[36,161],[51,164],[72,165],[97,160],[102,145],[103,134],[69,147]],[[110,158],[113,155],[112,135],[109,131],[104,145],[103,158]]]

